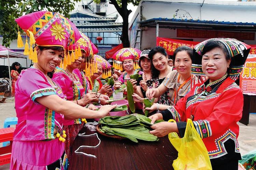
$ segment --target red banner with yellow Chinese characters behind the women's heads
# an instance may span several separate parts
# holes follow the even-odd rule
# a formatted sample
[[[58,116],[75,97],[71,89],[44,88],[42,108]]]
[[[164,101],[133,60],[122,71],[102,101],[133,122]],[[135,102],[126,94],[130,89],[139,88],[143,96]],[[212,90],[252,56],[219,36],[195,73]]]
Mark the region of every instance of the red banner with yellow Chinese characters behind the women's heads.
[[[163,47],[168,55],[173,55],[173,52],[176,50],[176,48],[180,46],[188,46],[193,48],[194,45],[197,45],[198,43],[200,42],[156,37],[156,46]]]

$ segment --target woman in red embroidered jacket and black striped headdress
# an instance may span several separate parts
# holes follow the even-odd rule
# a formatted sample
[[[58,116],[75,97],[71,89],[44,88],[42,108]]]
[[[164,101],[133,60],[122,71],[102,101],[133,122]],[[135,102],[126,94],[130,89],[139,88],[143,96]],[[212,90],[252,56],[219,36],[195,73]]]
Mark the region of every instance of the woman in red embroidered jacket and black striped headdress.
[[[152,123],[157,119],[174,119],[177,123],[157,123],[151,126],[154,130],[150,133],[162,137],[177,132],[183,137],[186,120],[190,118],[208,150],[212,168],[238,169],[241,155],[237,122],[242,117],[243,94],[234,81],[250,48],[236,39],[223,38],[195,46],[191,70],[198,75],[203,72],[209,79],[195,85],[175,106],[151,116]]]

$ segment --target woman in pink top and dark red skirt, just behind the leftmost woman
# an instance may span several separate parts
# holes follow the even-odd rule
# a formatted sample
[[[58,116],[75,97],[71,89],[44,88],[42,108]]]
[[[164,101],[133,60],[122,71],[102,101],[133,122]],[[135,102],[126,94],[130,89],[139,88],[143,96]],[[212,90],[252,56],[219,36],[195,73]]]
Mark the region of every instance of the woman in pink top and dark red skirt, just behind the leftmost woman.
[[[72,47],[71,47],[72,48]],[[69,49],[71,49],[69,48]],[[72,49],[75,49],[73,47]],[[98,100],[99,96],[97,96],[96,92],[89,92],[83,86],[82,74],[79,71],[79,67],[85,61],[85,51],[81,49],[82,56],[77,56],[77,51],[75,54],[72,54],[73,51],[69,51],[72,55],[76,55],[77,60],[71,62],[70,65],[66,67],[66,69],[62,69],[57,67],[53,74],[53,79],[56,80],[63,94],[67,97],[67,100],[73,101],[76,104],[81,106],[89,107],[90,109],[97,109],[94,105],[89,105],[90,102]],[[64,130],[66,131],[67,137],[65,141],[65,151],[68,155],[68,158],[71,158],[71,153],[73,150],[73,143],[78,135],[79,131],[83,128],[83,122],[85,119],[75,119],[75,120],[65,120],[64,122]]]

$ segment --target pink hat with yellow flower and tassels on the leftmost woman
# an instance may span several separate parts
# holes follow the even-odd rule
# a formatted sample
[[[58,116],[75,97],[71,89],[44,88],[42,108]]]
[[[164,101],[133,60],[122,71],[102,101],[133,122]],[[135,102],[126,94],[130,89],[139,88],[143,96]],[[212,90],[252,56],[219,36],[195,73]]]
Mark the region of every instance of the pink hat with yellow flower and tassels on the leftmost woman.
[[[76,34],[74,29],[71,28],[69,20],[55,12],[38,11],[19,17],[15,21],[30,37],[30,49],[26,40],[24,54],[29,55],[33,62],[37,62],[37,53],[35,50],[33,52],[32,49],[34,44],[39,46],[59,46],[66,49],[75,43]],[[19,32],[17,42],[18,47],[23,47]]]

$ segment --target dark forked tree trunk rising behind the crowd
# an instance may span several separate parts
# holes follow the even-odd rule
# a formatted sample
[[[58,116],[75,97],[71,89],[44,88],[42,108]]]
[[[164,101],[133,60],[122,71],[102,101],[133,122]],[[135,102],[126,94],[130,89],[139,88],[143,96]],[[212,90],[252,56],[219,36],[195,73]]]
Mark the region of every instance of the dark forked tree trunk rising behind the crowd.
[[[100,3],[100,0],[94,0],[94,2]],[[134,6],[138,6],[140,3],[140,0],[109,0],[109,3],[115,6],[117,12],[123,18],[123,30],[122,30],[122,35],[120,39],[124,47],[130,47],[129,36],[128,36],[128,25],[129,25],[128,17],[132,11],[127,9],[127,5],[128,3],[131,3]]]

